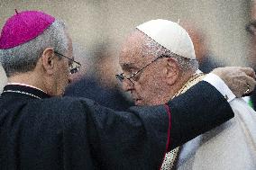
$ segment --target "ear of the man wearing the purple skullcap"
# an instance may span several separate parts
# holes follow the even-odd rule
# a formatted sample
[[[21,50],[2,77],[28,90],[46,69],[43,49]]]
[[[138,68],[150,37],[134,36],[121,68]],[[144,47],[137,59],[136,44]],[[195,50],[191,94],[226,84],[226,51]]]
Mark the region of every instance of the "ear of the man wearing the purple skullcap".
[[[42,67],[46,71],[47,74],[52,75],[54,73],[54,66],[55,66],[55,54],[52,48],[46,48],[42,52],[41,60],[42,60]]]

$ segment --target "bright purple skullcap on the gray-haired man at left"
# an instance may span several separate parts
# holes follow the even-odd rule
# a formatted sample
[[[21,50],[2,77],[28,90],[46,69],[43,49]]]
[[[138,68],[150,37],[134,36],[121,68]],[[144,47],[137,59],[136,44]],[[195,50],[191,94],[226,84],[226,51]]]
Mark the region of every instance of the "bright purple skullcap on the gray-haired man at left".
[[[39,36],[55,18],[38,11],[23,11],[9,18],[0,36],[0,49],[11,49]]]

